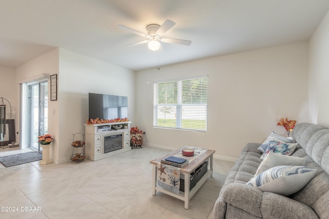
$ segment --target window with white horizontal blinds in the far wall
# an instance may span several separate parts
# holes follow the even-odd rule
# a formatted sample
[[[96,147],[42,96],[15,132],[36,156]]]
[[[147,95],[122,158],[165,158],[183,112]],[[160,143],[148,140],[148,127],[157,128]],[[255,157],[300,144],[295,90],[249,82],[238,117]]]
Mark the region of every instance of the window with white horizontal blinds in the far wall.
[[[207,77],[154,84],[153,126],[207,131]]]

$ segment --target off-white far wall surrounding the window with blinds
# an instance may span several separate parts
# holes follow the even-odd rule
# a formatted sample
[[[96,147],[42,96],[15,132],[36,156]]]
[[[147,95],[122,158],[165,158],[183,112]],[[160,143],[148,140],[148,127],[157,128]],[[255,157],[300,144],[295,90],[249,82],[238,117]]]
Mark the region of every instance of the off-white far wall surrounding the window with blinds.
[[[136,123],[145,145],[216,150],[234,160],[248,142],[261,143],[281,117],[309,122],[308,42],[164,66],[137,72]],[[153,128],[153,81],[208,74],[207,132]],[[151,83],[148,84],[147,82]]]

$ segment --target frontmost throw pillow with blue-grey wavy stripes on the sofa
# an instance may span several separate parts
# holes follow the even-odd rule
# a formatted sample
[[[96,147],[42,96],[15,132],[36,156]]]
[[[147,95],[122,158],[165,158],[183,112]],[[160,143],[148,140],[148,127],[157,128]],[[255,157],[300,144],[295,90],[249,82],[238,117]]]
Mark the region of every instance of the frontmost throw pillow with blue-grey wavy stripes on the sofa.
[[[253,177],[247,183],[262,192],[291,195],[302,189],[315,176],[316,170],[303,166],[277,166]]]

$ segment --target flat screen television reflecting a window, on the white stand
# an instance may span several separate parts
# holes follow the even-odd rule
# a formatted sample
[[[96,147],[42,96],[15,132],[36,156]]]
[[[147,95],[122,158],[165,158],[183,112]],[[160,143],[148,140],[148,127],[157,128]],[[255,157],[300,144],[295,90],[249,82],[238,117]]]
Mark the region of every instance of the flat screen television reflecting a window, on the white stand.
[[[128,97],[108,94],[89,93],[89,118],[128,117]]]

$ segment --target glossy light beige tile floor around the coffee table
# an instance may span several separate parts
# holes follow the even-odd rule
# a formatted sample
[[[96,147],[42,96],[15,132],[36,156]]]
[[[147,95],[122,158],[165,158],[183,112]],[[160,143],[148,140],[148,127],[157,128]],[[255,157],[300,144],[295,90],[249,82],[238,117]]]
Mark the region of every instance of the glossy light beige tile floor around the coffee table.
[[[0,149],[0,156],[27,151]],[[15,210],[0,212],[0,218],[213,218],[214,202],[234,163],[214,159],[213,177],[186,210],[174,197],[152,195],[150,160],[168,152],[143,147],[79,164],[37,161],[6,168],[0,163],[0,207]]]

